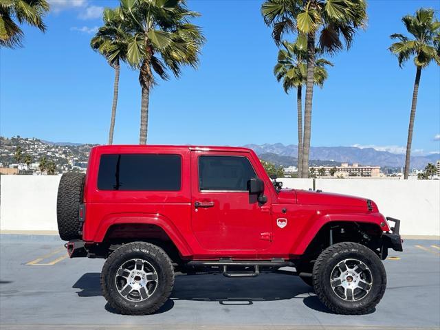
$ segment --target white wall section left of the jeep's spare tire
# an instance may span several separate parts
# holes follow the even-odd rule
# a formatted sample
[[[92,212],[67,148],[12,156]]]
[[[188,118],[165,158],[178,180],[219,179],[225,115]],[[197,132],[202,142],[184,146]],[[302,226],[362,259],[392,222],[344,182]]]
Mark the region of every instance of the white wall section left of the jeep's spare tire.
[[[0,175],[0,230],[58,230],[61,176]]]

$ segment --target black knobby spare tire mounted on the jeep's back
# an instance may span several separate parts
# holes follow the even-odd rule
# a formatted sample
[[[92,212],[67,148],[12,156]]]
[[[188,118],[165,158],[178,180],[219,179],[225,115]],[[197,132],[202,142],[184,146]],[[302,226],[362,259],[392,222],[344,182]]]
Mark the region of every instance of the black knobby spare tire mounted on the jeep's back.
[[[56,220],[61,239],[80,239],[80,203],[84,197],[84,173],[64,173],[58,186]]]

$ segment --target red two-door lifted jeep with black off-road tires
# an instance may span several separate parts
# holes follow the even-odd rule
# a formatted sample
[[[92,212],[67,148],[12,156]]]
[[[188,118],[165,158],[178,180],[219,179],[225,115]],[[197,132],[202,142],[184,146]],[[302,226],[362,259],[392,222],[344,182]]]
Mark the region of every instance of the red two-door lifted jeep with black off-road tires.
[[[373,201],[281,189],[248,148],[97,146],[87,175],[61,177],[57,217],[71,258],[107,259],[102,292],[123,314],[159,309],[175,272],[294,274],[331,311],[364,314],[385,292],[381,259],[402,251]]]

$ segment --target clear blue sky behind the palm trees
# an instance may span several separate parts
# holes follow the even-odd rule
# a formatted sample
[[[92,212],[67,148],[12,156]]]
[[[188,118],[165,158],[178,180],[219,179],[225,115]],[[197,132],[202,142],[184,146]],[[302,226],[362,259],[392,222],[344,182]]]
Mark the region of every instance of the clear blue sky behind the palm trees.
[[[297,143],[296,93],[286,95],[272,74],[277,49],[260,14],[262,1],[188,0],[208,42],[197,71],[160,82],[151,94],[148,143]],[[113,0],[52,0],[47,32],[23,27],[24,47],[1,50],[1,135],[55,142],[107,142],[113,69],[89,41]],[[316,88],[312,146],[375,146],[403,152],[415,67],[399,69],[389,35],[405,32],[404,14],[437,10],[437,0],[370,0],[369,24],[353,47],[331,58]],[[440,70],[421,74],[413,154],[440,150]],[[138,142],[137,72],[122,67],[114,142]],[[436,137],[437,135],[437,137]]]

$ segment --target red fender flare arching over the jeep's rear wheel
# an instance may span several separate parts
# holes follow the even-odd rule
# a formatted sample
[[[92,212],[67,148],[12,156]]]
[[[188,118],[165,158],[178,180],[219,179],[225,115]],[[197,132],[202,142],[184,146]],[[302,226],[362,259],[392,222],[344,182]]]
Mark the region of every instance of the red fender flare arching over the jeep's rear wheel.
[[[186,243],[184,237],[180,234],[179,230],[175,227],[173,221],[170,221],[168,217],[165,217],[159,213],[111,213],[107,214],[102,221],[100,221],[98,230],[94,237],[94,242],[102,242],[104,240],[107,231],[111,225],[117,224],[151,224],[157,225],[162,228],[168,235],[171,241],[173,241],[177,250],[179,250],[182,256],[192,255],[192,250],[188,243]]]

